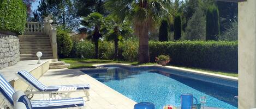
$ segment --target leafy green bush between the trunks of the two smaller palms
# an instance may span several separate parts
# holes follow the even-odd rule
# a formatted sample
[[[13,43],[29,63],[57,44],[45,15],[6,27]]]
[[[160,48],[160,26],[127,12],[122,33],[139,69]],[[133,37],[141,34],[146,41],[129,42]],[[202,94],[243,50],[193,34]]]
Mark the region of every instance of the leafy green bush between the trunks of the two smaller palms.
[[[100,59],[114,59],[114,43],[108,41],[100,41],[99,42],[99,58]]]

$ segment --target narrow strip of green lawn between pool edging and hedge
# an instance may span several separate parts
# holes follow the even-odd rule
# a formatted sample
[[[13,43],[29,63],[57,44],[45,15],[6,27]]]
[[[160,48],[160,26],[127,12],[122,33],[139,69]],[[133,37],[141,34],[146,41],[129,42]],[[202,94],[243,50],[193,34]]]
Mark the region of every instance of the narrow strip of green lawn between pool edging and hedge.
[[[99,59],[59,59],[61,61],[64,61],[66,63],[70,64],[70,69],[75,68],[95,68],[92,65],[96,64],[102,64],[102,63],[125,63],[133,66],[138,66],[138,62],[129,62],[129,61],[114,61],[114,60],[99,60]],[[156,63],[145,63],[142,65],[156,65]],[[181,66],[175,66],[175,67],[181,67]],[[187,68],[187,69],[193,69],[193,70],[199,70],[203,72],[209,72],[209,73],[216,73],[216,74],[222,74],[227,76],[234,76],[238,77],[237,73],[233,72],[219,72],[209,69],[199,69],[199,68],[190,68],[190,67],[181,67],[181,68]]]

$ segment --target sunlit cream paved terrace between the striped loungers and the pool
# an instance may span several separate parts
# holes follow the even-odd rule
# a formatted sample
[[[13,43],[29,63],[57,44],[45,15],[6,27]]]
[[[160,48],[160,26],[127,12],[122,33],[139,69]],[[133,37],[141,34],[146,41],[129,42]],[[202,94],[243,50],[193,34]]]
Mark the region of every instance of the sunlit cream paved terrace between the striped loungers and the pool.
[[[39,81],[49,85],[90,84],[90,101],[85,102],[86,109],[133,109],[135,101],[116,92],[114,89],[93,79],[78,69],[51,69]],[[84,92],[72,93],[71,97],[84,97]],[[48,94],[35,94],[32,99],[46,99]],[[85,98],[85,100],[87,100]]]

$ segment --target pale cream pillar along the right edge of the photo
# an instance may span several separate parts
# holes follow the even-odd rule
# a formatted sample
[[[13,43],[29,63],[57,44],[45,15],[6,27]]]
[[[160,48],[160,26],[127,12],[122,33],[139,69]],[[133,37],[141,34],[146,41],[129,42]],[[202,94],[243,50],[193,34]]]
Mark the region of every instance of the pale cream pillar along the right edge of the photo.
[[[239,2],[239,108],[256,107],[256,0]]]

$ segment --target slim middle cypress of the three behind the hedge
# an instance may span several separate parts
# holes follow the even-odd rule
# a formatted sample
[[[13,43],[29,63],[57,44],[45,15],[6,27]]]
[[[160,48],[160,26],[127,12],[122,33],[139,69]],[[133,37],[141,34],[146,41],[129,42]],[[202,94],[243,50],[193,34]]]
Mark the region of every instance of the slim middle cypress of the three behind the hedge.
[[[182,23],[181,15],[177,14],[174,18],[174,40],[181,39]]]

